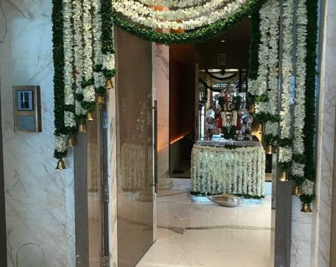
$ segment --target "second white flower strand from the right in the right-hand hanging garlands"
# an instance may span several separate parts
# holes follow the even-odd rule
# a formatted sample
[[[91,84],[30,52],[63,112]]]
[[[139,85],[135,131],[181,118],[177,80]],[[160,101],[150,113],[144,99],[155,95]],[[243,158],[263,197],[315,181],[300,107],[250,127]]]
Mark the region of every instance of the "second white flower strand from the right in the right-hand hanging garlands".
[[[280,111],[281,138],[291,138],[291,80],[293,74],[292,52],[293,52],[293,18],[294,1],[284,1],[283,18],[283,60],[282,60],[282,97]],[[292,161],[292,147],[279,147],[279,162],[288,163]]]

